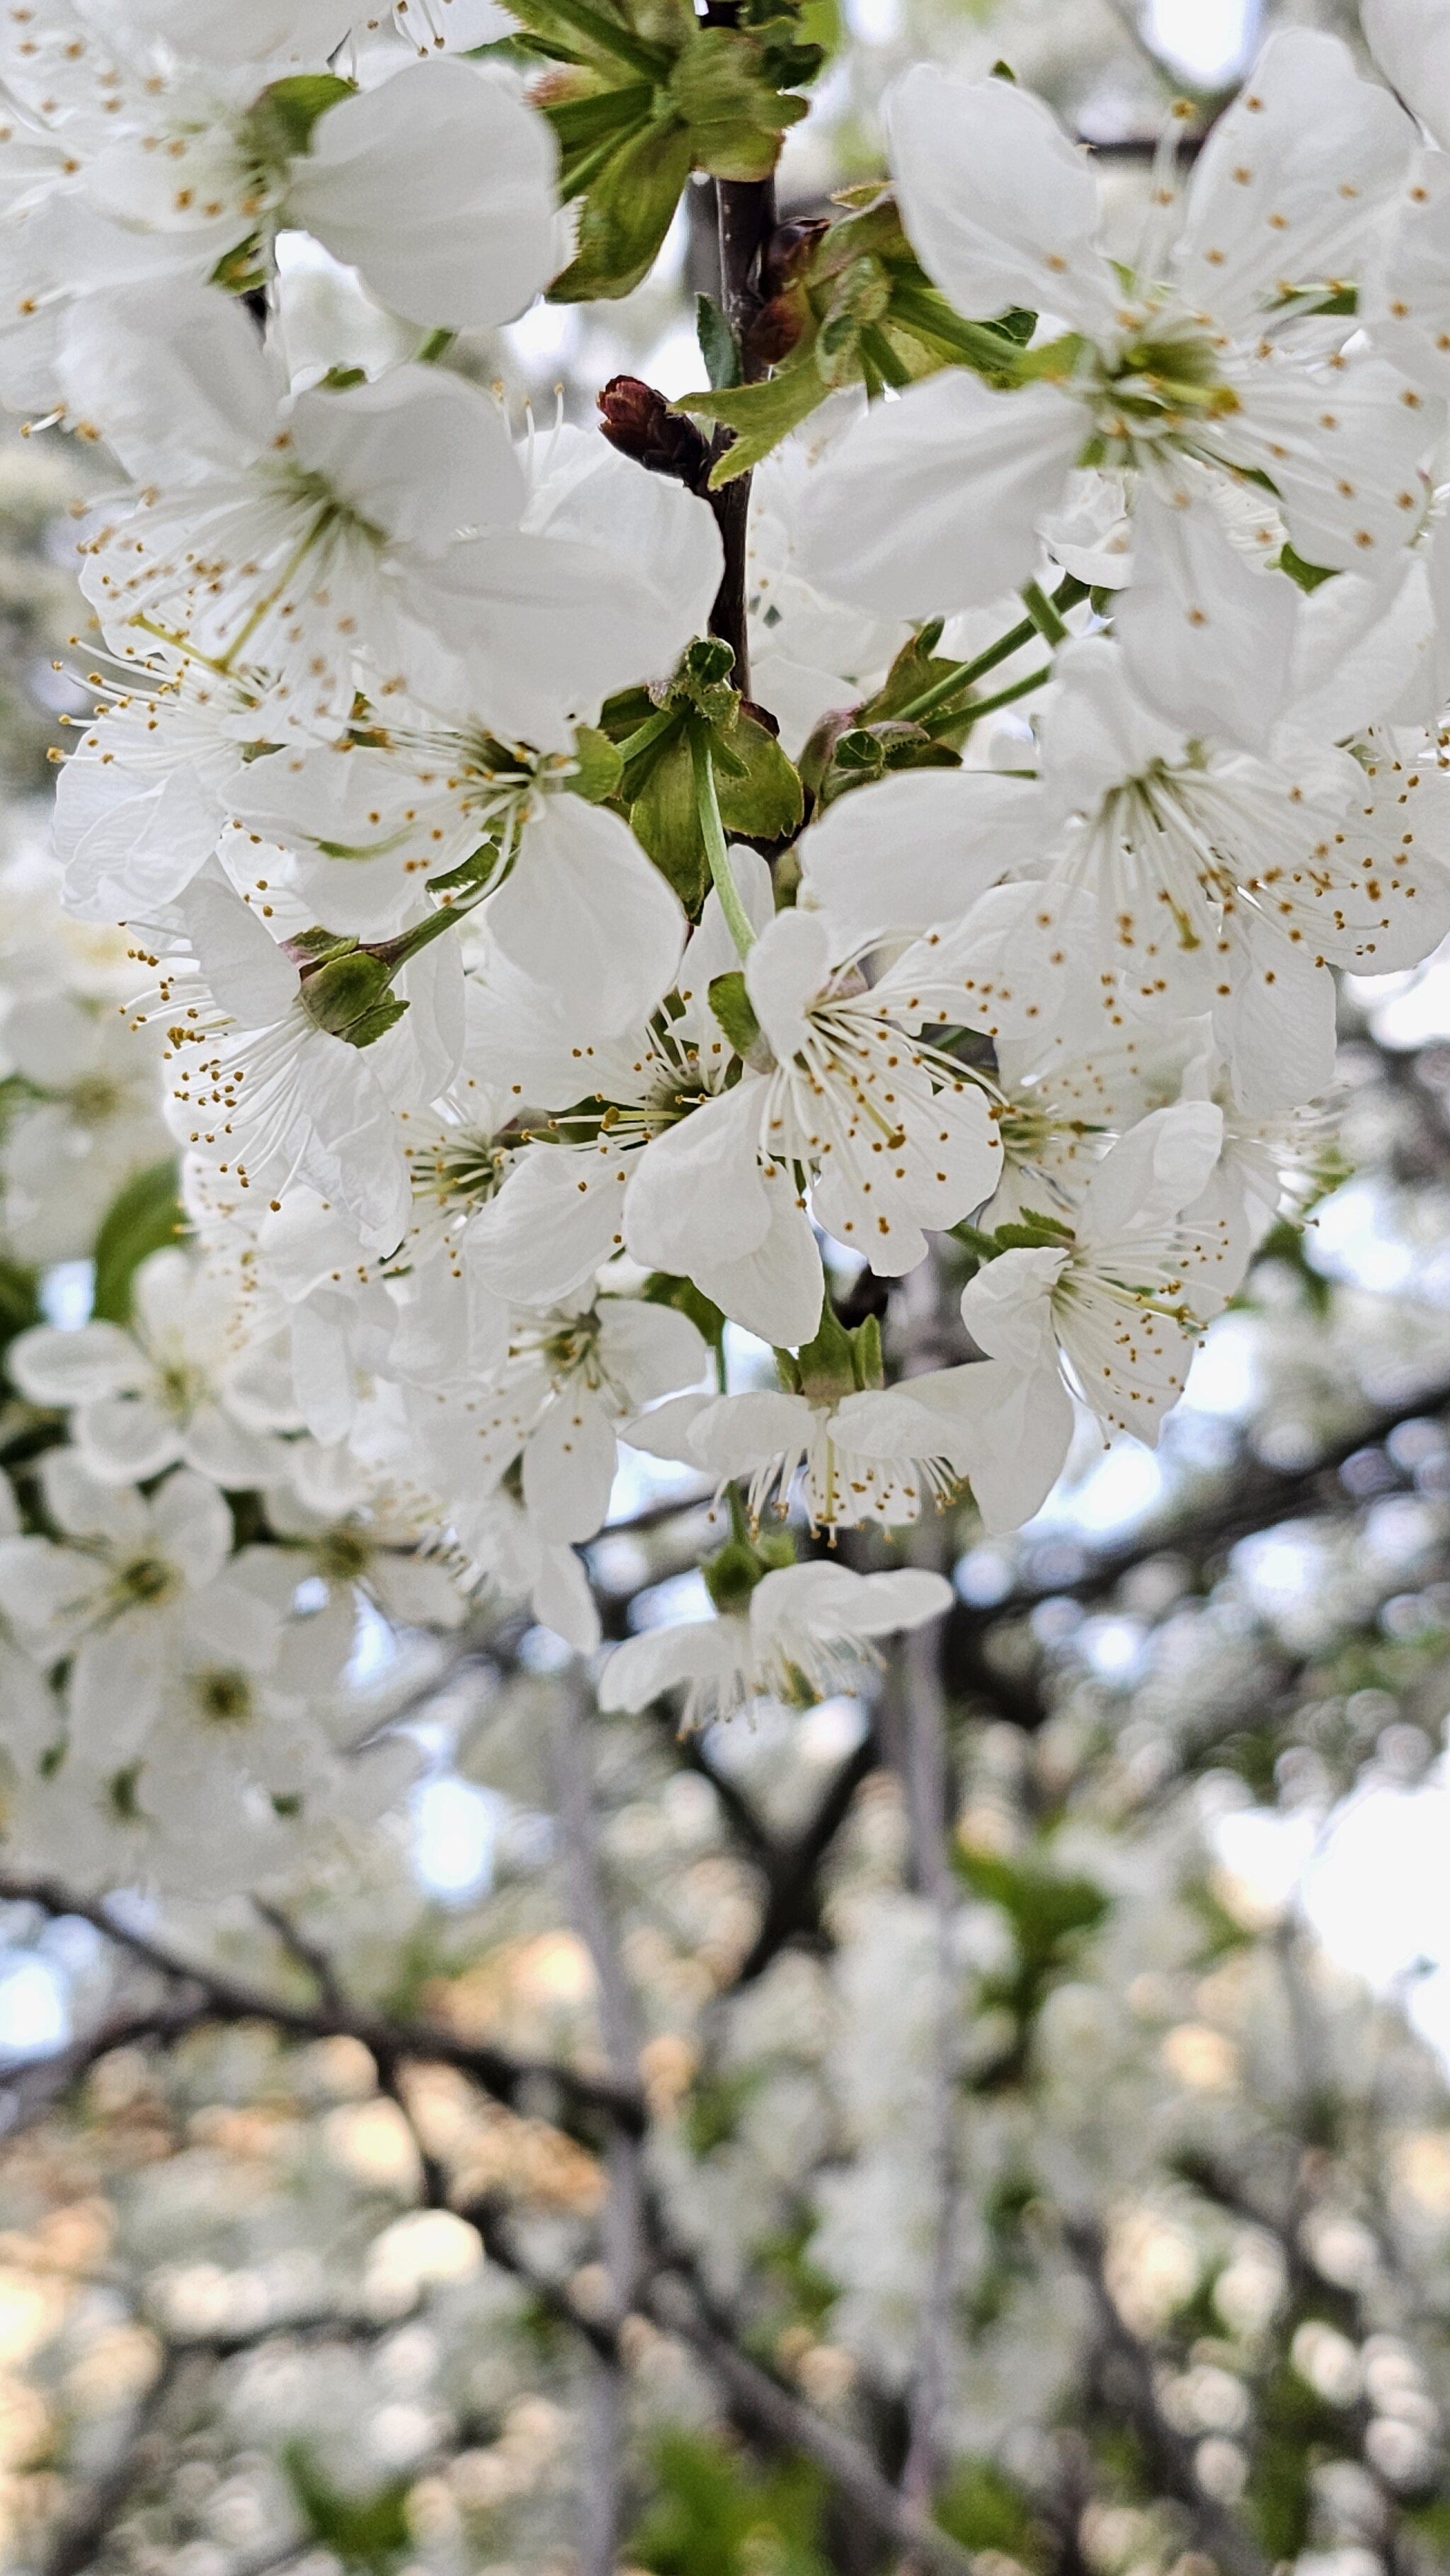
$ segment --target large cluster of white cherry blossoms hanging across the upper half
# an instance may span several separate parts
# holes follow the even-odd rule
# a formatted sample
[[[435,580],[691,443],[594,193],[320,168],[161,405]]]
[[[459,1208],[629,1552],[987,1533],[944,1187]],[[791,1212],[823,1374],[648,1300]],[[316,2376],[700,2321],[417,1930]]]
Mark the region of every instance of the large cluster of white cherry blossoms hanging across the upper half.
[[[1033,95],[919,67],[894,185],[706,307],[708,392],[515,438],[456,335],[626,291],[816,67],[788,10],[554,15],[0,39],[0,392],[124,477],[57,848],[131,963],[129,1030],[15,992],[8,1190],[85,1249],[46,1164],[100,1090],[155,1159],[160,1059],[191,1234],[10,1360],[70,1445],[3,1607],[111,1811],[343,1795],[296,1546],[428,1540],[592,1654],[621,1437],[734,1535],[603,1705],[850,1685],[948,1587],[796,1548],[1015,1530],[1082,1414],[1154,1443],[1313,1190],[1332,969],[1450,930],[1450,162],[1391,90],[1275,36],[1123,245]],[[296,363],[299,232],[415,355]]]

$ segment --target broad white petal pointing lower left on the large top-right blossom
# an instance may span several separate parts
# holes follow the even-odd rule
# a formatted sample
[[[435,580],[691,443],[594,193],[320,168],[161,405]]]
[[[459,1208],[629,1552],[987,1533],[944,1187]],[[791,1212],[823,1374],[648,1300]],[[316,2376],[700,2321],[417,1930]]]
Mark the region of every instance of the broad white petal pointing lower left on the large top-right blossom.
[[[883,616],[992,608],[1030,580],[1084,415],[1048,384],[994,394],[961,368],[873,404],[816,466],[798,554],[829,598]]]

